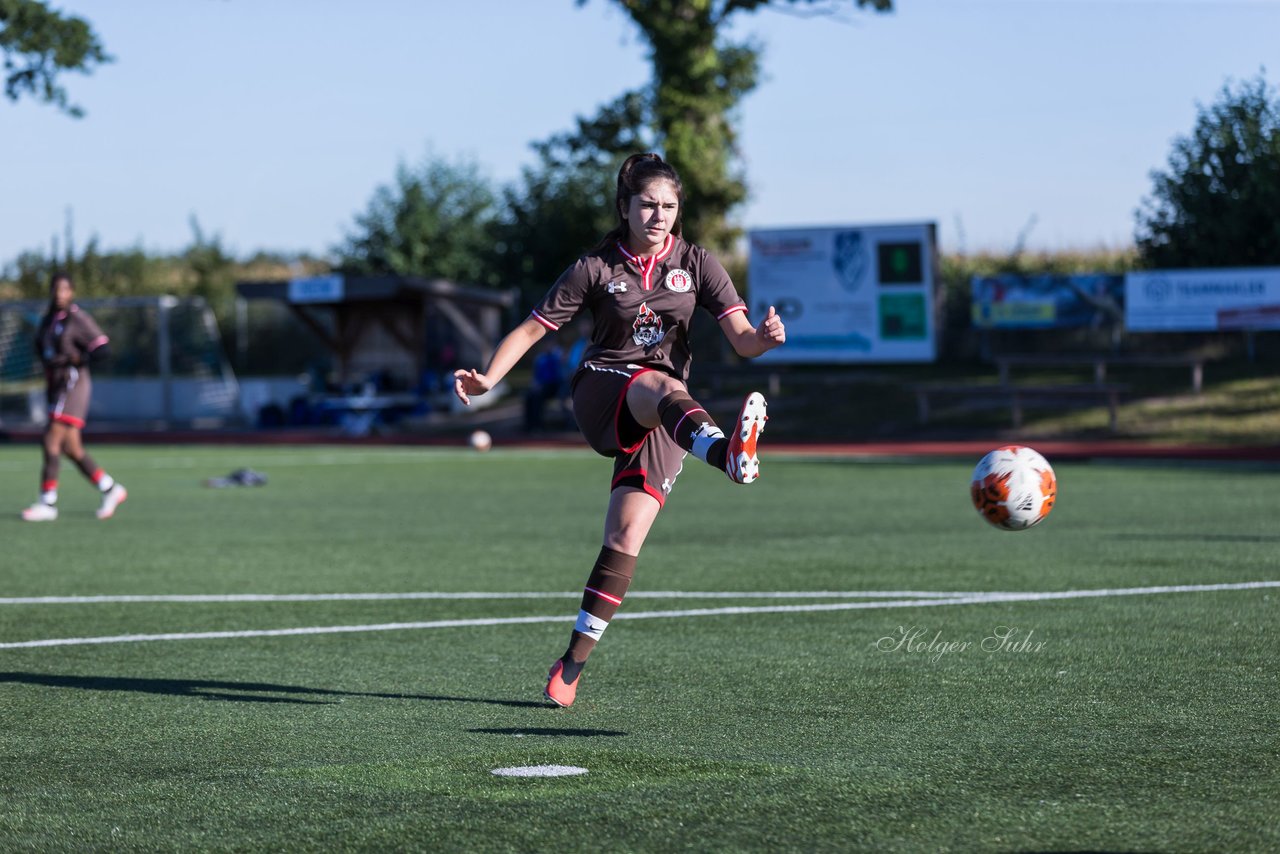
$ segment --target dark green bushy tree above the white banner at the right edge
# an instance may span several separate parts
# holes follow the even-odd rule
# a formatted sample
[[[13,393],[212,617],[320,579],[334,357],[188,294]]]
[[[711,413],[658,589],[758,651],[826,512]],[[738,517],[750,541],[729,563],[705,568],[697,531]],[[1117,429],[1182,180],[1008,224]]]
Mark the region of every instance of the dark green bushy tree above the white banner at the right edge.
[[[1151,179],[1137,211],[1147,266],[1280,264],[1280,101],[1261,73],[1201,106]]]

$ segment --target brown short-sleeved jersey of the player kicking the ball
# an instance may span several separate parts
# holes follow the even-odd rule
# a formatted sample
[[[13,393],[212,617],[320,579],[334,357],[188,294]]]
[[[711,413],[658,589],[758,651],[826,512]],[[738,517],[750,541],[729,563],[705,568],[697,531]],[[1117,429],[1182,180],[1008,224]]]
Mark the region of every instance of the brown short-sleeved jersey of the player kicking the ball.
[[[593,326],[584,364],[639,365],[687,382],[689,324],[698,306],[717,320],[746,311],[721,262],[671,234],[660,252],[644,259],[621,243],[584,255],[532,316],[556,332],[586,309]]]

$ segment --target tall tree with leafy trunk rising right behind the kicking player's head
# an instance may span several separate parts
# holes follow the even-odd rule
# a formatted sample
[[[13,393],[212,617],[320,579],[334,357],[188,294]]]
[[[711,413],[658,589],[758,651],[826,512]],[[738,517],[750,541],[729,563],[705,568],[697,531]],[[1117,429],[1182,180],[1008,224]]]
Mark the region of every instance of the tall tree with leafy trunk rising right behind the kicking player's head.
[[[586,0],[577,0],[584,5]],[[892,0],[614,0],[649,42],[650,123],[685,183],[684,219],[699,243],[726,250],[728,211],[746,198],[736,165],[739,102],[755,88],[760,47],[723,37],[730,18],[762,6],[838,15]],[[783,6],[785,4],[785,6]],[[804,9],[801,9],[804,6]]]

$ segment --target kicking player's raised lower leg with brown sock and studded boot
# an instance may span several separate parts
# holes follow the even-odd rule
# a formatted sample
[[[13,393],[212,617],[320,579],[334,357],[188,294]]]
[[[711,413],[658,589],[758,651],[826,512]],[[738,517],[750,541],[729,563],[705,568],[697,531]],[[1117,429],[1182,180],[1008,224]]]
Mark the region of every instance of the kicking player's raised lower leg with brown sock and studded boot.
[[[764,396],[753,392],[742,402],[733,431],[724,431],[689,392],[671,392],[658,403],[658,417],[672,440],[699,460],[724,471],[733,483],[749,484],[760,476],[756,442],[764,431]]]

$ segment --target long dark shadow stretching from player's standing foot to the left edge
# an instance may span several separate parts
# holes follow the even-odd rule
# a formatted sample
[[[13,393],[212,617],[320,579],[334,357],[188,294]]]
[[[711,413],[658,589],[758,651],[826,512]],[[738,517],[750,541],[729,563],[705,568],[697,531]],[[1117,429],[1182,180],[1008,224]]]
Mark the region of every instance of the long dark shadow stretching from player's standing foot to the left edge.
[[[0,684],[18,682],[46,688],[77,688],[87,691],[132,691],[160,697],[195,697],[202,700],[233,703],[293,703],[333,705],[344,697],[370,697],[388,700],[426,700],[435,703],[488,703],[516,708],[543,708],[536,700],[503,700],[485,697],[444,697],[439,694],[393,694],[381,691],[338,691],[326,688],[274,685],[270,682],[228,682],[200,679],[129,679],[125,676],[61,676],[56,673],[0,673]],[[283,695],[283,697],[280,697]],[[321,699],[308,699],[321,698]],[[337,698],[337,699],[323,699]]]

